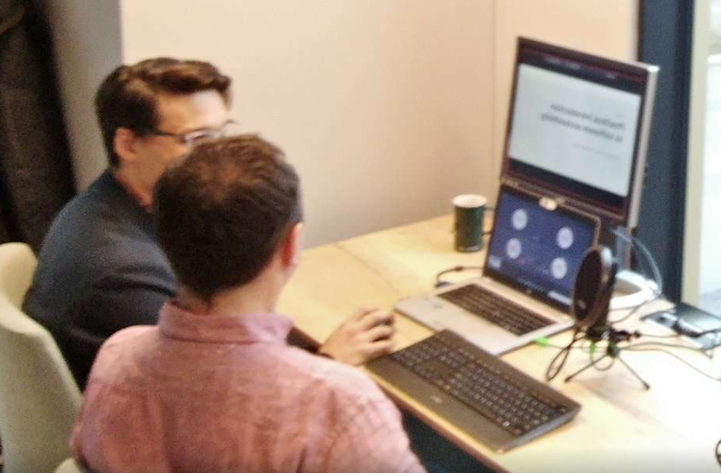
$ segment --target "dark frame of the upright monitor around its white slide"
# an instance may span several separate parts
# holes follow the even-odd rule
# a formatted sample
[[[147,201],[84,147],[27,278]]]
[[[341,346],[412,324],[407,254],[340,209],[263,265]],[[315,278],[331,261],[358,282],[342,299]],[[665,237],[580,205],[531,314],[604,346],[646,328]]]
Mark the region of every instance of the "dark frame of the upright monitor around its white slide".
[[[636,143],[634,144],[632,172],[629,179],[629,188],[627,196],[623,199],[620,206],[611,206],[601,200],[594,200],[583,192],[578,192],[570,188],[570,182],[578,182],[562,177],[559,174],[544,172],[540,168],[535,168],[538,172],[536,175],[529,175],[526,172],[519,172],[513,169],[512,159],[509,155],[510,137],[513,125],[513,110],[516,105],[516,89],[518,87],[518,66],[521,64],[521,51],[523,48],[533,48],[540,50],[552,56],[567,61],[583,62],[592,67],[611,70],[617,74],[626,74],[638,77],[643,84],[641,92],[640,115],[637,123]],[[585,212],[593,213],[604,221],[609,222],[613,226],[626,226],[634,229],[638,224],[638,214],[641,201],[643,175],[645,170],[646,153],[648,146],[648,136],[650,133],[651,115],[653,114],[653,99],[655,97],[656,78],[658,75],[658,67],[644,63],[631,61],[619,61],[610,58],[604,58],[589,53],[583,53],[578,50],[563,48],[558,45],[544,43],[538,40],[532,40],[528,37],[518,37],[516,48],[516,62],[513,69],[513,84],[510,93],[510,105],[508,107],[508,120],[506,123],[505,141],[503,146],[503,165],[501,166],[501,179],[513,182],[518,187],[526,187],[531,191],[540,192],[550,195],[557,201],[563,201],[568,205],[575,206]],[[513,160],[518,162],[518,160]],[[523,164],[523,163],[521,163]],[[528,164],[523,164],[532,167]],[[551,180],[544,175],[552,174]],[[583,185],[582,185],[583,186]],[[586,190],[590,190],[591,186],[587,186]]]

